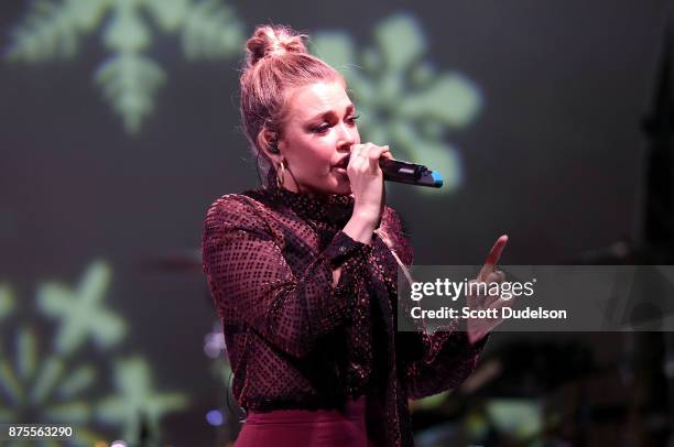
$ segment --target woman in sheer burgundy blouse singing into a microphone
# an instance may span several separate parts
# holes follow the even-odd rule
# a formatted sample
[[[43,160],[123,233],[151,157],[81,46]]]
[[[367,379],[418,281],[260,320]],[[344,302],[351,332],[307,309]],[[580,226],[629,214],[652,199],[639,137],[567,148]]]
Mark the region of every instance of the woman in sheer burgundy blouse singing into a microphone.
[[[391,154],[361,143],[345,79],[304,37],[259,26],[248,41],[241,120],[265,184],[217,199],[203,236],[248,412],[237,446],[412,446],[407,399],[460,384],[486,337],[395,330],[412,250],[384,201]]]

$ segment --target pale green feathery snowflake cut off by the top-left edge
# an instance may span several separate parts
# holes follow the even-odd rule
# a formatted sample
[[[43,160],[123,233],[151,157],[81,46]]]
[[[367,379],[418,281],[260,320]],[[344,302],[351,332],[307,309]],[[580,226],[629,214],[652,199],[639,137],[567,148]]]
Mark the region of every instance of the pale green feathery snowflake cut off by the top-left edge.
[[[14,30],[6,58],[73,58],[79,40],[102,26],[104,44],[112,54],[100,64],[95,80],[127,132],[135,134],[166,81],[164,70],[144,54],[152,41],[145,17],[165,33],[180,33],[189,61],[226,58],[242,45],[243,25],[220,0],[37,0]]]

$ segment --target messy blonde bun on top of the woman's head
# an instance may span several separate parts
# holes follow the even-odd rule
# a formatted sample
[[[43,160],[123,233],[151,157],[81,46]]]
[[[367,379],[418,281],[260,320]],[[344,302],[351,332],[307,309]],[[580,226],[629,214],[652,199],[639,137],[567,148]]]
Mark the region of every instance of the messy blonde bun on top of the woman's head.
[[[246,43],[248,66],[252,67],[268,56],[282,56],[287,53],[306,53],[303,39],[294,30],[282,25],[260,25]]]

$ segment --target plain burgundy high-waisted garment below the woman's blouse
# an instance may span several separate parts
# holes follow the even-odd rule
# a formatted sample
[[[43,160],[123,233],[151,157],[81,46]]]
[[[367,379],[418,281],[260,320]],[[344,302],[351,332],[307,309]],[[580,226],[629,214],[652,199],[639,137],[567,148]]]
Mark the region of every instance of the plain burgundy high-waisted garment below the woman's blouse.
[[[366,397],[337,410],[250,412],[235,447],[372,447],[366,432]]]

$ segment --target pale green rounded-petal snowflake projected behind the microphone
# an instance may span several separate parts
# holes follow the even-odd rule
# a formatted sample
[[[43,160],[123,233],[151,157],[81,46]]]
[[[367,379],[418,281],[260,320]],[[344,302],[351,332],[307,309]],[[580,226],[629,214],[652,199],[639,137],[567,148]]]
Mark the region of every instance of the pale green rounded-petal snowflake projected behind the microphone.
[[[348,34],[319,32],[313,48],[347,78],[361,112],[363,140],[390,144],[396,157],[437,170],[448,186],[441,192],[455,190],[461,183],[460,156],[445,133],[475,119],[481,107],[479,89],[467,77],[438,74],[423,61],[426,41],[409,15],[381,21],[374,42],[358,52]]]

